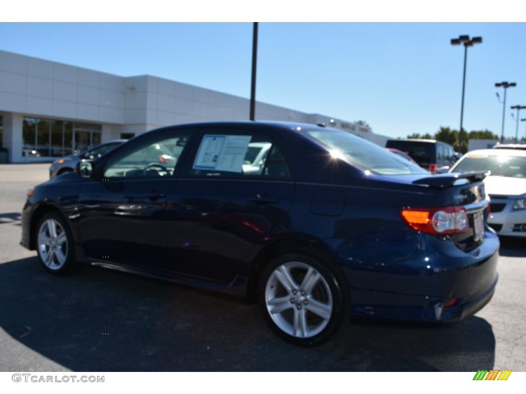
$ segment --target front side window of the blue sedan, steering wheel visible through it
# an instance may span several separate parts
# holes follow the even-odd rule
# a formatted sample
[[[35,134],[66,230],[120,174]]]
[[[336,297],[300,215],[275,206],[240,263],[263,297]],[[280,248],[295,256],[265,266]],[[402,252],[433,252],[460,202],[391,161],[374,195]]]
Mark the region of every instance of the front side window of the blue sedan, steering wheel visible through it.
[[[169,177],[183,152],[189,133],[145,140],[133,148],[109,159],[103,177],[110,178],[157,178]]]

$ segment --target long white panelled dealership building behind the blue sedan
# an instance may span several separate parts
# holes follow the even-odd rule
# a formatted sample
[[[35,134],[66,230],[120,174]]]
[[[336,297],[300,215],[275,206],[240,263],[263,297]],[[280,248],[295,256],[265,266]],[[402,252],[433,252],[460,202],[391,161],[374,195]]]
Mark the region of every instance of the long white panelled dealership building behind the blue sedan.
[[[0,162],[51,161],[178,123],[247,120],[249,109],[247,98],[177,81],[121,77],[0,50]],[[380,146],[388,139],[354,122],[259,101],[255,118],[325,123]]]

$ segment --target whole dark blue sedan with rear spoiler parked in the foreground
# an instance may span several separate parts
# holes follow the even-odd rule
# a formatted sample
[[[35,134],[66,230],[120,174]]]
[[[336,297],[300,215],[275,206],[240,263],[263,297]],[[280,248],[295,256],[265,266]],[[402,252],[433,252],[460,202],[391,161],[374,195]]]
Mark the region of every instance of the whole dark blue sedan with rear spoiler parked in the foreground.
[[[257,297],[278,335],[316,345],[351,313],[452,322],[487,304],[483,178],[322,126],[178,125],[28,191],[21,244],[53,274],[84,263]]]

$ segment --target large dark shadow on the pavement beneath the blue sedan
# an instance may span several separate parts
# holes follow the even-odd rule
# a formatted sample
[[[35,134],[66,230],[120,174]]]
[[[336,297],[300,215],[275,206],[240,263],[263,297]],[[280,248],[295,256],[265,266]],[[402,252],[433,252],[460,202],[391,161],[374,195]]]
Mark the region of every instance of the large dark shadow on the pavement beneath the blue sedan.
[[[0,264],[0,278],[4,371],[38,371],[39,355],[73,371],[477,371],[494,362],[479,317],[431,327],[362,319],[300,348],[238,298],[89,266],[54,276],[36,257]]]

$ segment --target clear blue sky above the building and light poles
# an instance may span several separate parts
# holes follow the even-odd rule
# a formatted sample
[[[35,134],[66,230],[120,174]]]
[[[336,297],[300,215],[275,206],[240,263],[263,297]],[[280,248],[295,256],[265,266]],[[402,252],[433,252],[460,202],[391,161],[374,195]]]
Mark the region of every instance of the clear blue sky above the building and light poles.
[[[3,20],[0,49],[250,97],[251,22],[122,23],[113,15],[93,23]],[[502,99],[503,89],[494,84],[517,82],[507,92],[504,129],[514,137],[509,107],[526,106],[526,23],[260,22],[256,99],[363,120],[391,137],[458,129],[464,48],[450,40],[464,34],[483,42],[468,48],[463,127],[500,135],[503,105],[495,92]],[[519,122],[519,136],[525,132],[526,121]]]

